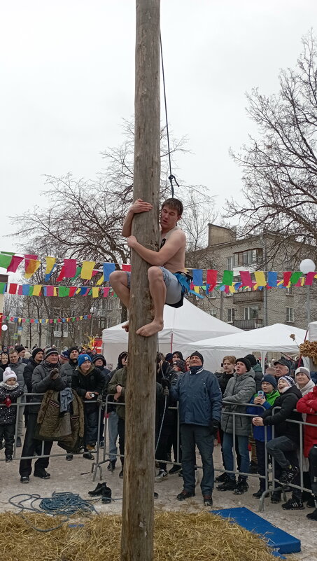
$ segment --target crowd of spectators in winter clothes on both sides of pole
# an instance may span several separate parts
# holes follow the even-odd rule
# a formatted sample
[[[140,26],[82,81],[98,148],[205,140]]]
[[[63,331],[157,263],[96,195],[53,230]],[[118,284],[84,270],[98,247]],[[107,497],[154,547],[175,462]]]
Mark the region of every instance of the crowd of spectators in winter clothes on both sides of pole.
[[[94,459],[98,438],[101,446],[106,438],[105,416],[108,469],[115,470],[120,457],[119,477],[123,478],[128,358],[127,352],[120,353],[118,365],[109,370],[102,354],[76,345],[60,354],[55,347],[35,346],[28,352],[22,345],[1,352],[0,448],[10,462],[14,445],[22,446],[21,483],[29,483],[34,455],[33,475],[50,478],[47,468],[54,441],[61,442],[67,461],[74,453]],[[307,518],[317,520],[317,387],[302,362],[293,370],[294,365],[282,356],[267,364],[263,373],[253,354],[238,359],[228,355],[220,371],[211,373],[197,350],[186,359],[179,351],[167,356],[157,353],[156,364],[155,482],[162,483],[178,473],[183,490],[177,499],[193,497],[197,448],[202,460],[202,497],[204,504],[211,506],[213,446],[218,440],[223,457],[223,473],[216,478],[219,491],[244,494],[248,492],[248,474],[258,473],[259,490],[253,496],[261,497],[267,490],[266,474],[272,464],[272,503],[281,501],[282,490],[290,490],[290,499],[282,507],[302,510],[307,501],[307,506],[315,506]],[[17,399],[29,403],[27,407],[19,405],[18,413]],[[58,409],[58,427],[54,413],[48,418],[48,403]],[[73,440],[68,444],[62,444],[62,413],[65,418],[68,415],[71,427]],[[302,421],[309,424],[304,425],[301,458]],[[47,426],[52,434],[43,438],[41,429],[47,430]],[[309,492],[303,492],[303,486]]]

